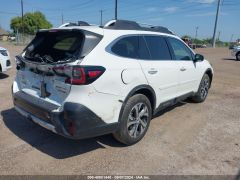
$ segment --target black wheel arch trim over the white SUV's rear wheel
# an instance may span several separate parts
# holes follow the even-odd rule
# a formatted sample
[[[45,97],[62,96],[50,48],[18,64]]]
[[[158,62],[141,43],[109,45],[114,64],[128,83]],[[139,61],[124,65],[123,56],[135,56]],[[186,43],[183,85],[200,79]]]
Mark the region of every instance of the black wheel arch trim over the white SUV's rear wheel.
[[[120,114],[119,114],[119,118],[118,121],[120,122],[121,120],[121,116],[124,110],[124,107],[128,101],[128,99],[136,94],[143,94],[145,95],[150,103],[151,103],[151,107],[152,107],[152,113],[154,112],[155,108],[156,108],[156,93],[153,90],[153,88],[149,85],[139,85],[135,88],[133,88],[127,95],[127,97],[125,98],[125,100],[123,101],[121,110],[120,110]]]

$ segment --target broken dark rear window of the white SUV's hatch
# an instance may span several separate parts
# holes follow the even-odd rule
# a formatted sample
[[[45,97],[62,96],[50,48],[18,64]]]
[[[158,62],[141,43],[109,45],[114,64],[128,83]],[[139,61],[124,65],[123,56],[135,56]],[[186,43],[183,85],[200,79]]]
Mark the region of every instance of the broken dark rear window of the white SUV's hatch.
[[[33,41],[27,46],[25,58],[39,63],[56,63],[73,61],[89,53],[101,40],[97,35],[88,38],[89,32],[83,31],[45,31],[38,32]],[[89,44],[91,46],[89,46]],[[83,52],[84,51],[84,52]]]

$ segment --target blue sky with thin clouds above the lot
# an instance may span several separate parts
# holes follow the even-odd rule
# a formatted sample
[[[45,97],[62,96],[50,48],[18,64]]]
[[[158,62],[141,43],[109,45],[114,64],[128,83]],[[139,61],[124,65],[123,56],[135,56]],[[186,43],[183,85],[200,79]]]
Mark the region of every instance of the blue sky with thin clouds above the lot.
[[[100,23],[114,17],[115,0],[23,0],[24,12],[41,11],[55,26],[65,22],[84,20]],[[212,37],[217,0],[118,0],[118,18],[166,26],[179,36]],[[20,0],[0,0],[0,26],[9,30],[10,19],[20,15]],[[240,0],[221,0],[217,33],[220,39],[230,41],[240,38]]]

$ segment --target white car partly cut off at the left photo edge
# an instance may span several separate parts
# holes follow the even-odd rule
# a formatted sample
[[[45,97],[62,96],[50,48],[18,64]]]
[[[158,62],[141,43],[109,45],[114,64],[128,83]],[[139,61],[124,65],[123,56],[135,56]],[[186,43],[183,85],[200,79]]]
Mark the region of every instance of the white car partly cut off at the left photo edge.
[[[10,54],[5,48],[0,47],[0,73],[6,72],[10,68]]]

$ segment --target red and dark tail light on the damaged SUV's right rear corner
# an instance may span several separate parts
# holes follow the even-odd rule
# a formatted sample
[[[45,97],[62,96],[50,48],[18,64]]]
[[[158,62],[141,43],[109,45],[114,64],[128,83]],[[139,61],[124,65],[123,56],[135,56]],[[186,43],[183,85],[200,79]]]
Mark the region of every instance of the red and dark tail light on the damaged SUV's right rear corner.
[[[101,66],[60,66],[53,71],[61,76],[66,76],[65,83],[72,85],[87,85],[98,79],[105,68]]]

